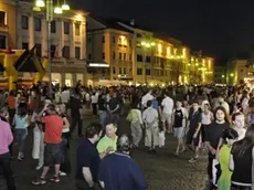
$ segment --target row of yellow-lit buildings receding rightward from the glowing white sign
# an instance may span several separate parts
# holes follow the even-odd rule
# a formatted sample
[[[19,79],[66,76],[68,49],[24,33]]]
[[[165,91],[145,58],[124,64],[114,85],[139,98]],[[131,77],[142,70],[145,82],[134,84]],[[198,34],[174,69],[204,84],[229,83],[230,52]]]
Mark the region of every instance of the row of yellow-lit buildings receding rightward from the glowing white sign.
[[[151,86],[213,83],[214,60],[191,54],[190,48],[176,39],[138,27],[134,20],[88,15],[87,22],[87,60],[95,66],[88,68],[92,80]]]

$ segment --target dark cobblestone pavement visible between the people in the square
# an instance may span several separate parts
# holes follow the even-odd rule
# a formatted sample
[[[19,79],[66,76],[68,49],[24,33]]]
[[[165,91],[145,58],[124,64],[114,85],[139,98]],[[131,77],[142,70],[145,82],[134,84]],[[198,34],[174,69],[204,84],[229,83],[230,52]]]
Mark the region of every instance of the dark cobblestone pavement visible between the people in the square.
[[[96,117],[85,116],[84,127],[92,120],[96,120]],[[129,133],[127,122],[121,119],[120,131]],[[73,139],[71,142],[70,157],[72,161],[73,172],[70,177],[62,177],[60,183],[47,182],[42,187],[34,187],[31,184],[31,180],[35,177],[40,177],[41,171],[35,171],[36,160],[31,158],[32,149],[32,133],[30,133],[25,141],[25,159],[23,162],[13,160],[12,168],[15,175],[15,183],[18,190],[75,190],[74,173],[75,173],[75,151],[78,139]],[[133,158],[140,165],[144,175],[148,181],[149,190],[204,190],[207,181],[207,158],[203,151],[195,163],[189,163],[188,159],[191,152],[187,151],[179,157],[173,156],[173,150],[177,145],[176,139],[172,136],[167,136],[166,147],[158,149],[156,155],[150,155],[146,151],[146,148],[141,150],[135,150]],[[17,150],[17,146],[14,147]],[[53,169],[47,177],[53,175]],[[0,179],[0,190],[6,190],[6,182]]]

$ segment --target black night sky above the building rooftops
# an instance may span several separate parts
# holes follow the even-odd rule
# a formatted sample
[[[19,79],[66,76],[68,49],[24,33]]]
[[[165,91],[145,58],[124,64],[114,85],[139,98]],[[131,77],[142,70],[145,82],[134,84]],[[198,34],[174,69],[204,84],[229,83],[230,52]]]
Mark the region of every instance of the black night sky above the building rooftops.
[[[218,60],[242,55],[254,44],[253,0],[72,1],[97,15],[135,19]]]

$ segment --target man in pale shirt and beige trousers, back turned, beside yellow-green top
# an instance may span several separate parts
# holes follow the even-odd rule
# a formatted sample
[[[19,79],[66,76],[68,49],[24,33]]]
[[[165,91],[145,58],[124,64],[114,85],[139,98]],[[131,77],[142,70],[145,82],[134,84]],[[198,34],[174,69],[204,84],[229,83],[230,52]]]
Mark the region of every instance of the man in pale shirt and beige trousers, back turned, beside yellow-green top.
[[[146,128],[145,146],[149,147],[150,152],[156,152],[159,138],[158,110],[152,107],[152,102],[147,102],[147,109],[142,113],[142,120]]]

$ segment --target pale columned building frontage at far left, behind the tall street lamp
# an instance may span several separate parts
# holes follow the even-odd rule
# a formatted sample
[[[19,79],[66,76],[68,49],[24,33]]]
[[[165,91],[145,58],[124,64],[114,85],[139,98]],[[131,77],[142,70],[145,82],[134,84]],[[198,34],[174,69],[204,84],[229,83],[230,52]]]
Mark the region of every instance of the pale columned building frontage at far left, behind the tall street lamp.
[[[85,83],[87,81],[86,13],[71,10],[53,15],[51,52],[49,52],[45,10],[34,11],[33,8],[34,4],[27,1],[0,2],[0,22],[1,15],[6,15],[6,25],[1,27],[0,23],[0,43],[4,32],[7,33],[7,43],[0,49],[10,46],[31,50],[35,45],[36,55],[41,60],[51,53],[53,83],[59,83],[61,86],[75,85],[77,81]],[[6,31],[2,32],[2,28]],[[23,74],[27,77],[34,77],[31,73]],[[46,74],[43,80],[47,81],[49,75]]]

